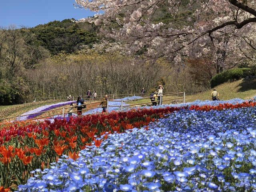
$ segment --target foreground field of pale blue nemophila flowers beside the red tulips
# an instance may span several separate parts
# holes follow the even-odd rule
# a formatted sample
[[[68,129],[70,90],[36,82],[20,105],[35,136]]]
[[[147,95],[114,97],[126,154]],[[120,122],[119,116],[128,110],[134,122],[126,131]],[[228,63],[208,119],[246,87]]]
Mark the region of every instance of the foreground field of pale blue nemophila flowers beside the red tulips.
[[[256,191],[256,108],[176,111],[32,174],[18,191]]]

